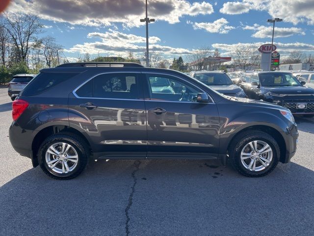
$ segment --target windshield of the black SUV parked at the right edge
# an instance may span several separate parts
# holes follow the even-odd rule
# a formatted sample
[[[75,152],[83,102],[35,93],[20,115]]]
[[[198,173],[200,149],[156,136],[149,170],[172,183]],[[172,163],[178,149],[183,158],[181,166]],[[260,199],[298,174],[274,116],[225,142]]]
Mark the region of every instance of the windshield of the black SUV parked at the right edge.
[[[264,87],[302,86],[291,73],[266,73],[259,76]]]

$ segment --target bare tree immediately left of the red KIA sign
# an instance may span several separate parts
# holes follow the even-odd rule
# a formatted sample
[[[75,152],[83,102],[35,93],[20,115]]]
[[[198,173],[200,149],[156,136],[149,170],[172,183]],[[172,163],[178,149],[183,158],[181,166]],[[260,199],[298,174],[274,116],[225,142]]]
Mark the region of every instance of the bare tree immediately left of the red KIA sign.
[[[233,63],[240,69],[251,69],[252,66],[259,64],[261,56],[254,44],[247,47],[236,48],[233,53],[231,53]]]

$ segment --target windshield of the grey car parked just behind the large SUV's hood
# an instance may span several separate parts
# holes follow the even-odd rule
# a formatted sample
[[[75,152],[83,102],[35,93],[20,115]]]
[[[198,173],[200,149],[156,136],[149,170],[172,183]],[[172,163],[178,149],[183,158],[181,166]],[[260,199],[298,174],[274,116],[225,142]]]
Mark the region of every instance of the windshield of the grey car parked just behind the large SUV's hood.
[[[208,86],[233,84],[232,80],[228,77],[228,75],[223,74],[223,73],[196,74],[194,78],[203,82],[204,84]]]

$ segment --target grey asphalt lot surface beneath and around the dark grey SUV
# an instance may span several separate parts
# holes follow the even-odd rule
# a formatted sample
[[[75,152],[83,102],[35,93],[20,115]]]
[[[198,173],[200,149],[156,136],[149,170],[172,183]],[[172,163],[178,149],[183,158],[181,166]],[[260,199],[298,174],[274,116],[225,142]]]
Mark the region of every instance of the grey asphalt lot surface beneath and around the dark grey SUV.
[[[101,160],[47,177],[11,147],[0,89],[0,235],[311,235],[314,118],[296,118],[296,155],[248,178],[204,160]]]

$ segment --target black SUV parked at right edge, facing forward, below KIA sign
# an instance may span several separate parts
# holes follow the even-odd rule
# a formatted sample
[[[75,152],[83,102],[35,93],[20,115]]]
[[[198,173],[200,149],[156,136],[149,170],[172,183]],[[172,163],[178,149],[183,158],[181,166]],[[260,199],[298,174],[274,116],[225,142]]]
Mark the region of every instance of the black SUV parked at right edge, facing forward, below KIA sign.
[[[249,98],[288,108],[292,114],[314,115],[314,89],[304,87],[289,72],[254,72],[242,75],[241,88]]]

